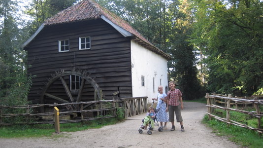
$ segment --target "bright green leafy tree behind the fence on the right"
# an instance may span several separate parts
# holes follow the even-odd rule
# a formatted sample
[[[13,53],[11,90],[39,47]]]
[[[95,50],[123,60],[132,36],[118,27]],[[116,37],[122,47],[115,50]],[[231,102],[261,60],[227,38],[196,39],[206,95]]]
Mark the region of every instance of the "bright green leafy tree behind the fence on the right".
[[[263,3],[194,1],[191,42],[207,57],[208,90],[251,95],[263,88]]]

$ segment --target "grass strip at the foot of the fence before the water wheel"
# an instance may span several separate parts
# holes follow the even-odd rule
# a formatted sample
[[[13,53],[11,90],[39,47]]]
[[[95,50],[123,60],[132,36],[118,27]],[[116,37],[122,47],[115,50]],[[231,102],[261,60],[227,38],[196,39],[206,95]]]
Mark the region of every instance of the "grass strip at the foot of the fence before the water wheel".
[[[119,122],[116,118],[106,118],[82,123],[60,124],[60,132],[76,132],[91,128],[100,128]],[[54,135],[55,127],[51,124],[37,125],[12,125],[0,127],[0,138],[31,138],[31,137],[50,137]],[[57,134],[57,136],[63,136]],[[56,137],[56,136],[55,136]]]

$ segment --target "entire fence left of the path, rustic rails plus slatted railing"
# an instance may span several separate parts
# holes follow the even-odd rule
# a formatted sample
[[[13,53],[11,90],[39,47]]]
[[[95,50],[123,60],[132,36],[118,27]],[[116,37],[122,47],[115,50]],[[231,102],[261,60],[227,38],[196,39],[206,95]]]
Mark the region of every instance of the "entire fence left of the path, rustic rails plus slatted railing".
[[[148,97],[135,97],[135,98],[121,98],[120,100],[99,100],[80,103],[63,103],[63,104],[39,104],[39,105],[24,105],[24,106],[0,106],[0,125],[11,124],[54,124],[54,107],[63,107],[67,110],[61,110],[60,123],[81,122],[88,120],[96,120],[101,118],[111,118],[117,116],[116,110],[124,108],[125,117],[134,116],[137,114],[147,112],[147,98]],[[87,106],[93,106],[92,110],[84,110]],[[123,106],[123,107],[122,107]],[[42,108],[50,108],[50,112],[35,113]],[[74,108],[74,109],[73,109]],[[7,113],[4,110],[21,109],[25,113]],[[34,111],[33,111],[34,110]],[[95,113],[96,117],[87,117],[85,114]],[[75,117],[76,114],[80,116]],[[25,117],[24,122],[19,123],[4,123],[3,118],[10,117]],[[64,117],[69,117],[65,119]]]

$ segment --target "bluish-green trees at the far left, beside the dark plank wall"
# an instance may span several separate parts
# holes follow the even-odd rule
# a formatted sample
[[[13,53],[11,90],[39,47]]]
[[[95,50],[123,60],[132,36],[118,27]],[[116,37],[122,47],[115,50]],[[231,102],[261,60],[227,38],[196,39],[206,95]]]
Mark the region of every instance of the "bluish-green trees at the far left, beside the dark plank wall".
[[[18,28],[17,1],[2,0],[0,10],[0,105],[27,104],[30,81],[20,47],[24,34]]]

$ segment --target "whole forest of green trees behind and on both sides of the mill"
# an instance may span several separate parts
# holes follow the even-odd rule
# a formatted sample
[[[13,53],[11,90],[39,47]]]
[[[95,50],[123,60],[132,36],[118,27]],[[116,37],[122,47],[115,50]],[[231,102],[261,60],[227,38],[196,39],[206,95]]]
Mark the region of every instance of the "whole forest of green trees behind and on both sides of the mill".
[[[21,46],[79,1],[0,0],[0,105],[28,104],[33,75]],[[263,95],[263,0],[95,1],[172,57],[168,79],[184,100],[205,92]]]

